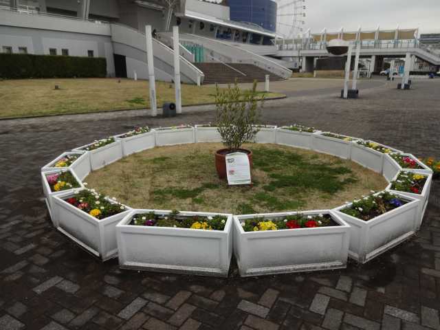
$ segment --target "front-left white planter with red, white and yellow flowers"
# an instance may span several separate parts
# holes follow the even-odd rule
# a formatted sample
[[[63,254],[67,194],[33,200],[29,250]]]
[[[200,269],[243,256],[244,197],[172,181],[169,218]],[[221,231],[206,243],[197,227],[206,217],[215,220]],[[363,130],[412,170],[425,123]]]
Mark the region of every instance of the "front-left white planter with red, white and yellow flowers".
[[[54,198],[58,230],[102,261],[118,254],[115,227],[131,210],[95,190],[77,190]]]

